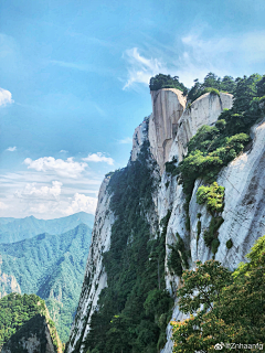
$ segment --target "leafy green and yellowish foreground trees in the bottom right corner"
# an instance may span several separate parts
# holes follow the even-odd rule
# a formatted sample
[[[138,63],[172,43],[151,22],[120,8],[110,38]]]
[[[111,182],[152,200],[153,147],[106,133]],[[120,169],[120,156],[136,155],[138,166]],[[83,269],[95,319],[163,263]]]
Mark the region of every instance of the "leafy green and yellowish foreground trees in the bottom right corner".
[[[190,318],[172,322],[174,353],[264,350],[265,236],[247,258],[233,274],[214,260],[184,271],[177,296]]]

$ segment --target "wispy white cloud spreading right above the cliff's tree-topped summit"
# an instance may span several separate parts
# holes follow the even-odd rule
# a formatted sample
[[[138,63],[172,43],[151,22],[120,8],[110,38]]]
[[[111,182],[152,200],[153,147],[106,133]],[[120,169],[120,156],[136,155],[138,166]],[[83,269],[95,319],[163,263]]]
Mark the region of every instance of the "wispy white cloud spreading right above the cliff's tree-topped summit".
[[[137,47],[125,52],[128,79],[124,89],[136,83],[148,84],[159,73],[179,76],[180,82],[191,87],[193,81],[202,81],[209,72],[219,76],[234,77],[255,72],[255,64],[265,62],[265,31],[232,35],[205,36],[206,23],[191,29],[172,45],[146,43],[145,56]],[[150,41],[149,41],[150,42]],[[253,68],[254,67],[254,68]]]

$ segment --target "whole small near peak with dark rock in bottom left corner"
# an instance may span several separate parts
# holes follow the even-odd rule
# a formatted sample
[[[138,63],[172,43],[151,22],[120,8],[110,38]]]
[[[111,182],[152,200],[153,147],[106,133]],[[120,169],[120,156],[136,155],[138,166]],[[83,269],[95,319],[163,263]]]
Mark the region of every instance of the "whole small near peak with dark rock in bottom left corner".
[[[62,343],[44,300],[11,293],[0,300],[2,353],[62,353]]]

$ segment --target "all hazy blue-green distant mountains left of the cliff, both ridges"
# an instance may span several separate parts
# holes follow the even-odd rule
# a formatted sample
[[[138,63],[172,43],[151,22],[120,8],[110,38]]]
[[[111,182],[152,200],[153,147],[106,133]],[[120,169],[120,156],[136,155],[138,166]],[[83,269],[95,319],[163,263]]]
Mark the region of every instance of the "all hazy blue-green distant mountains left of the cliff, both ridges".
[[[33,216],[0,218],[0,298],[19,292],[45,299],[63,342],[68,338],[78,302],[93,217],[81,212],[49,221]],[[24,239],[10,243],[19,237]]]

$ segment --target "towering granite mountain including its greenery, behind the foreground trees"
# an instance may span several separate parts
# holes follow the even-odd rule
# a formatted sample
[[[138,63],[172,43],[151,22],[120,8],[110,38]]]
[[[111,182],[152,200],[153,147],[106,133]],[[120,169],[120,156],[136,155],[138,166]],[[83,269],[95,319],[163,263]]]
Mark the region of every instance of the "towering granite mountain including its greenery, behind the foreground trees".
[[[151,92],[152,114],[135,130],[127,167],[106,174],[99,190],[65,352],[180,352],[170,320],[187,318],[176,297],[183,271],[197,260],[230,270],[246,263],[265,234],[259,82],[265,76],[236,78],[234,95],[214,88],[193,101],[176,88]],[[179,327],[184,341],[192,331]]]

